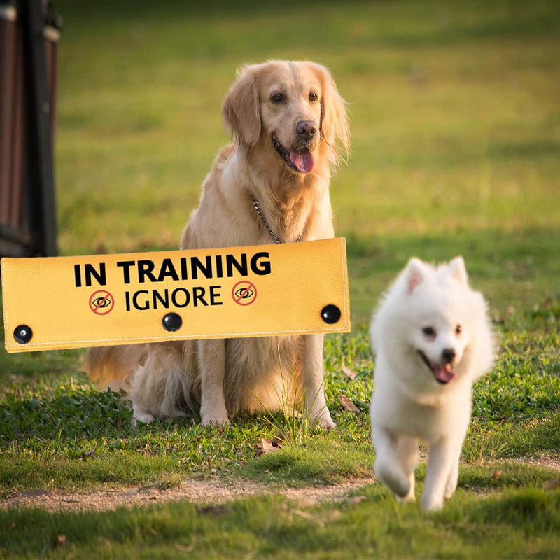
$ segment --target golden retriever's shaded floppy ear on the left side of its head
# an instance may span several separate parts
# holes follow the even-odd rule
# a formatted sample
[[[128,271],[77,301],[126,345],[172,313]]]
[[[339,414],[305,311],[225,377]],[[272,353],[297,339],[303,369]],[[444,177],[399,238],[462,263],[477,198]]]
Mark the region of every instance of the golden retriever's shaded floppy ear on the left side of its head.
[[[225,96],[222,118],[241,148],[254,146],[260,136],[257,76],[260,66],[245,66]]]

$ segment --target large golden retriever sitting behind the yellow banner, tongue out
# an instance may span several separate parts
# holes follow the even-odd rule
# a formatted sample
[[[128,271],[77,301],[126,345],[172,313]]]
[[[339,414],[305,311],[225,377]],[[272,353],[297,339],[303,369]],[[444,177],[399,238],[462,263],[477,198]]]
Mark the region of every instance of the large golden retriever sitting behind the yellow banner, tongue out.
[[[314,62],[244,66],[222,114],[232,145],[204,181],[181,248],[333,237],[330,169],[348,154],[349,125],[329,71]],[[99,382],[126,380],[140,421],[200,412],[202,424],[228,423],[297,394],[311,420],[334,426],[323,335],[112,346],[90,350],[88,370]]]

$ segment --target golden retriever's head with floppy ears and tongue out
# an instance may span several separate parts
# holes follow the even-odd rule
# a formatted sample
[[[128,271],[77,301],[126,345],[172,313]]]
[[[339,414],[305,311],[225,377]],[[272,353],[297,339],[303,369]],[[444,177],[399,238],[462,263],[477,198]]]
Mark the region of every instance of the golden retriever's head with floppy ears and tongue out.
[[[316,158],[337,163],[349,151],[344,100],[314,62],[245,66],[225,97],[223,119],[242,154],[264,148],[295,174],[311,172]]]

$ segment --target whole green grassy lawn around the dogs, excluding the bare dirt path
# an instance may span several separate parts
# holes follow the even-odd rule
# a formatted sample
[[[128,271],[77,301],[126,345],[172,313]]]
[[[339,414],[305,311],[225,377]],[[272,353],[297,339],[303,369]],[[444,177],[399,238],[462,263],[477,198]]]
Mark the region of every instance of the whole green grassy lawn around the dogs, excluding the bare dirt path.
[[[3,507],[0,558],[560,556],[560,474],[531,463],[560,462],[559,6],[55,5],[65,22],[61,253],[176,248],[228,141],[220,108],[237,66],[314,59],[331,69],[351,115],[352,152],[331,193],[348,241],[353,331],[325,344],[337,429],[270,454],[257,444],[274,437],[281,414],[237,416],[228,428],[185,418],[132,426],[125,400],[81,372],[83,351],[1,349],[0,500],[191,477],[281,489],[369,476],[367,318],[411,255],[464,256],[500,353],[475,386],[458,492],[440,513],[398,505],[373,481],[314,505],[272,494],[216,510],[185,500],[114,512]],[[424,475],[421,465],[419,491]]]

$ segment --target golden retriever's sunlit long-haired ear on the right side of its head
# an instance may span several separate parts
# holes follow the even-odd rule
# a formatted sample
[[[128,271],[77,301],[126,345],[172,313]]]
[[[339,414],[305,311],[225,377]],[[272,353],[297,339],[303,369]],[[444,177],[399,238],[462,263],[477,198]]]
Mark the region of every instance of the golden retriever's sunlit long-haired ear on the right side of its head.
[[[350,151],[350,127],[346,114],[346,102],[337,90],[335,80],[330,72],[320,64],[315,64],[316,71],[323,83],[321,98],[321,137],[326,141],[333,160],[338,163],[343,155]]]

